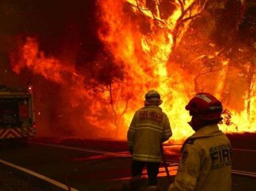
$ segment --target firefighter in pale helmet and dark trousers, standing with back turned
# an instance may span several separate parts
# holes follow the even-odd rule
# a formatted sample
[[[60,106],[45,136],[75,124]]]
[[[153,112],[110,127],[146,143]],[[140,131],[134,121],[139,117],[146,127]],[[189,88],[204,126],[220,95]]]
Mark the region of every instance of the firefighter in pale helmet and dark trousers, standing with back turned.
[[[159,105],[160,94],[150,90],[145,95],[144,108],[134,114],[130,124],[127,140],[132,160],[132,190],[136,190],[144,166],[147,167],[148,188],[158,190],[157,175],[161,162],[161,144],[172,136],[167,115]]]

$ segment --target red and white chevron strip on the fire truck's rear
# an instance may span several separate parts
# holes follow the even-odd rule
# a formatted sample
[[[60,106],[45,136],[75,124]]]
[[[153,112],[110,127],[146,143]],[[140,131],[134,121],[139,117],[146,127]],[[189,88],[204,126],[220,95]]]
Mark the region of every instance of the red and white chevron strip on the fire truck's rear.
[[[0,129],[0,139],[33,136],[32,127]]]

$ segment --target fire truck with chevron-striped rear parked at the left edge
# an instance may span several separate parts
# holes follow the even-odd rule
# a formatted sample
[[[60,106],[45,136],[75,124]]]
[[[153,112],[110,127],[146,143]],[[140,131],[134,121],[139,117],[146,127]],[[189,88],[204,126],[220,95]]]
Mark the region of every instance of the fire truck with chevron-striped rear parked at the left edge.
[[[36,135],[32,89],[0,85],[0,140],[26,142]]]

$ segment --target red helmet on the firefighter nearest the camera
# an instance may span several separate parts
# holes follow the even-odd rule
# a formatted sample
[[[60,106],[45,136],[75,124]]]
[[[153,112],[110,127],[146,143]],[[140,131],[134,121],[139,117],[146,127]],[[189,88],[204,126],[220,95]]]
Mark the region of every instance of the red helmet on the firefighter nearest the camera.
[[[196,94],[188,105],[186,110],[191,116],[198,116],[205,121],[221,120],[222,104],[213,95],[205,92]]]

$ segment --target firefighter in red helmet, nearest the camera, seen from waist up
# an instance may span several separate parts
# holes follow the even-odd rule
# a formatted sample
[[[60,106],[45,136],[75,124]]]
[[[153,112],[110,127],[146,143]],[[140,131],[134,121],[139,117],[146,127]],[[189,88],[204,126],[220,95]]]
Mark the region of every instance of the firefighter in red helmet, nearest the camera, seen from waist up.
[[[230,191],[232,150],[219,130],[222,104],[209,93],[198,93],[186,110],[195,133],[184,142],[181,162],[168,191]]]

